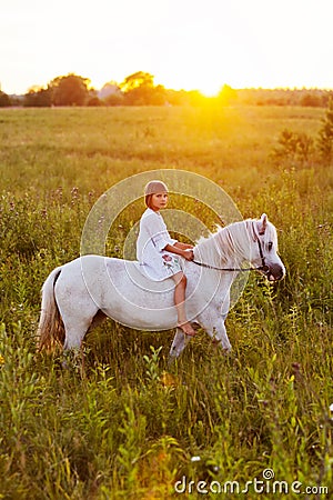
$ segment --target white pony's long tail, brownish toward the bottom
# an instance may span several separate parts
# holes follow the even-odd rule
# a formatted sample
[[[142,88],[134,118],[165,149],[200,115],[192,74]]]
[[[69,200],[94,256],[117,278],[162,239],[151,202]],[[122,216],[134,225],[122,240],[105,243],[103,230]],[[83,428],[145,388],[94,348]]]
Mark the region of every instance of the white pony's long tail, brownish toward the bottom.
[[[54,284],[61,273],[56,268],[47,278],[42,288],[41,314],[38,326],[38,351],[51,351],[57,344],[63,346],[64,326],[54,297]]]

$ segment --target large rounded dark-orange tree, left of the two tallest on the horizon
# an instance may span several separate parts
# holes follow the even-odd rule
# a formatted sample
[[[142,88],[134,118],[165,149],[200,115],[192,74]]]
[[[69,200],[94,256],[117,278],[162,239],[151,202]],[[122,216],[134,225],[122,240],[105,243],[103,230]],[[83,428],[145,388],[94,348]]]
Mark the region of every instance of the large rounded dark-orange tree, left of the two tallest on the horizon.
[[[57,77],[51,81],[54,106],[84,106],[89,99],[90,80],[69,73],[65,77]]]

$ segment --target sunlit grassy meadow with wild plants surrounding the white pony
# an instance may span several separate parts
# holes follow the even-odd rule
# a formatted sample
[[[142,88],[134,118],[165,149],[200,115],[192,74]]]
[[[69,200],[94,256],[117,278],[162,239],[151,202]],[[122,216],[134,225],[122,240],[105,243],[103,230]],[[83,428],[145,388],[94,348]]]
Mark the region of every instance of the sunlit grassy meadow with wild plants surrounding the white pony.
[[[333,169],[315,149],[324,112],[0,111],[0,499],[330,498]],[[313,139],[306,157],[274,154],[283,129]],[[110,320],[63,369],[61,352],[36,350],[41,286],[80,254],[99,197],[154,169],[211,179],[244,218],[266,212],[286,277],[250,277],[226,321],[228,357],[199,332],[170,368],[172,331]],[[110,256],[138,210],[122,214]],[[216,492],[226,481],[239,494],[235,484]]]

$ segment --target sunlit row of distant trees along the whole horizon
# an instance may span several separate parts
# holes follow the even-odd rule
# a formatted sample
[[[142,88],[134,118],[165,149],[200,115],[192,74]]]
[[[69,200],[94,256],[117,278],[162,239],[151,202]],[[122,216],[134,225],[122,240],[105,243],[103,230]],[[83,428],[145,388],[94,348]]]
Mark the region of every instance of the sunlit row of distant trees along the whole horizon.
[[[172,90],[154,84],[154,77],[138,71],[123,82],[110,81],[98,91],[91,80],[74,73],[54,78],[44,87],[32,87],[24,96],[0,91],[0,107],[52,106],[198,106],[208,100],[220,104],[326,107],[333,90],[322,89],[233,89],[224,84],[218,96],[208,98],[198,90]]]

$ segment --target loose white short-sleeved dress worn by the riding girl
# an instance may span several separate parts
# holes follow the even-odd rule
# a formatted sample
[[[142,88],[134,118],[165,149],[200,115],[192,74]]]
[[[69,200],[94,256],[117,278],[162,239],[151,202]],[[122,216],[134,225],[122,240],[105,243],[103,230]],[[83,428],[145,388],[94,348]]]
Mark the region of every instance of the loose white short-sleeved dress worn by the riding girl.
[[[164,251],[167,244],[174,243],[161,213],[148,208],[140,220],[137,259],[151,280],[162,281],[182,270],[176,256]]]

